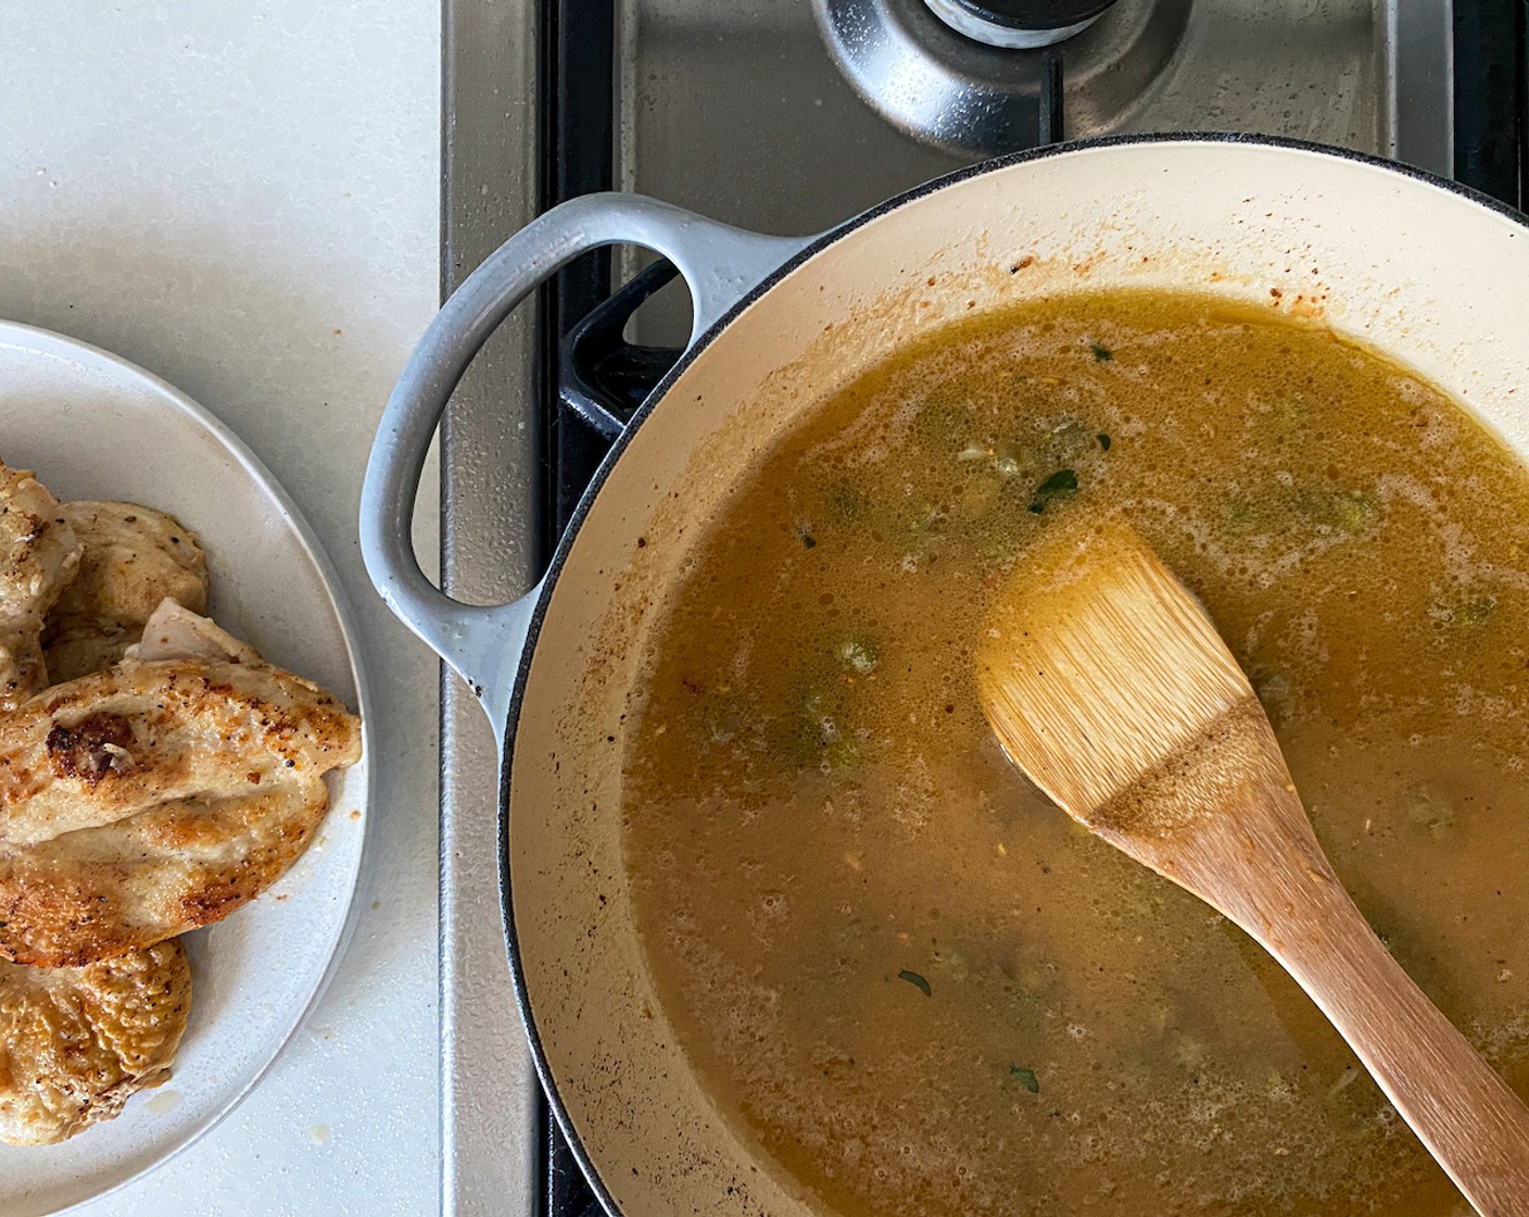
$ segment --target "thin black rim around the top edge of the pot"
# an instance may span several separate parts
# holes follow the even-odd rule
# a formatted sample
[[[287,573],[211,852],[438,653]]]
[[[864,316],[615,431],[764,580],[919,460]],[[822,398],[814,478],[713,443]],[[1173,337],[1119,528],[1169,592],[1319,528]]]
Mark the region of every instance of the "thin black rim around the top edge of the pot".
[[[995,156],[988,161],[980,161],[974,165],[966,165],[957,168],[953,173],[942,175],[939,178],[931,178],[927,182],[920,182],[910,190],[894,194],[890,199],[878,204],[868,211],[862,211],[858,216],[850,217],[836,228],[830,228],[823,233],[815,240],[803,246],[797,254],[787,259],[784,263],[777,266],[763,280],[754,285],[731,309],[726,311],[700,338],[697,338],[685,351],[680,360],[664,375],[664,378],[654,386],[653,392],[647,396],[638,412],[633,415],[631,421],[622,430],[621,436],[612,445],[610,453],[601,461],[599,468],[595,471],[593,479],[579,498],[578,507],[573,516],[569,519],[569,525],[563,536],[558,539],[557,548],[552,553],[552,560],[547,563],[547,573],[541,580],[541,591],[537,597],[535,609],[532,611],[531,625],[526,632],[524,648],[520,655],[520,664],[515,670],[515,687],[511,693],[509,715],[505,726],[505,739],[502,765],[500,765],[500,785],[498,785],[498,892],[500,892],[500,914],[505,925],[505,945],[509,955],[509,974],[511,981],[515,989],[515,1006],[520,1010],[521,1023],[526,1027],[526,1036],[531,1042],[531,1058],[535,1064],[537,1079],[541,1084],[543,1091],[547,1098],[547,1107],[550,1108],[558,1127],[563,1130],[563,1136],[567,1139],[569,1148],[573,1153],[573,1159],[578,1162],[579,1170],[584,1171],[584,1177],[589,1180],[590,1189],[599,1200],[601,1206],[612,1217],[621,1217],[621,1209],[616,1205],[610,1188],[605,1186],[605,1180],[595,1165],[587,1147],[573,1127],[572,1116],[563,1096],[558,1090],[557,1079],[552,1076],[552,1067],[547,1062],[546,1049],[541,1042],[541,1033],[537,1029],[535,1016],[531,1009],[531,994],[526,987],[524,967],[520,958],[520,938],[515,931],[515,911],[514,899],[511,892],[511,877],[509,877],[509,791],[511,791],[511,776],[515,758],[515,730],[520,723],[520,712],[526,693],[526,680],[531,672],[531,661],[535,655],[537,640],[541,635],[541,625],[546,618],[547,605],[552,599],[553,586],[557,585],[558,576],[563,573],[563,566],[567,563],[569,553],[573,542],[578,539],[578,533],[589,517],[590,508],[595,499],[599,496],[601,488],[605,485],[605,479],[610,471],[616,467],[621,455],[625,452],[627,444],[631,442],[631,436],[651,416],[653,410],[664,401],[668,390],[674,386],[674,381],[685,374],[685,370],[706,351],[729,325],[737,318],[749,305],[758,300],[764,292],[771,291],[778,282],[795,271],[800,265],[815,257],[818,253],[826,250],[844,237],[850,236],[856,230],[870,223],[875,219],[894,211],[907,204],[922,199],[927,194],[933,194],[943,190],[948,185],[956,185],[968,178],[979,178],[986,173],[997,173],[1006,170],[1012,165],[1026,164],[1029,161],[1043,161],[1052,156],[1060,156],[1072,152],[1084,152],[1092,148],[1116,147],[1122,144],[1251,144],[1255,147],[1272,147],[1272,148],[1287,148],[1290,152],[1306,152],[1316,153],[1321,156],[1332,156],[1341,161],[1356,161],[1364,165],[1372,165],[1375,168],[1387,170],[1388,173],[1396,173],[1402,178],[1413,178],[1416,181],[1425,182],[1428,185],[1445,190],[1451,194],[1459,194],[1474,204],[1479,204],[1489,211],[1495,211],[1515,223],[1529,228],[1529,214],[1518,211],[1514,207],[1494,199],[1489,194],[1483,194],[1474,187],[1465,185],[1462,182],[1451,181],[1449,178],[1442,178],[1437,173],[1431,173],[1423,168],[1416,168],[1413,165],[1404,165],[1398,161],[1387,161],[1384,156],[1373,156],[1365,152],[1355,152],[1352,148],[1341,148],[1332,144],[1318,144],[1309,139],[1292,139],[1286,136],[1274,135],[1249,135],[1243,132],[1151,132],[1139,135],[1105,135],[1095,136],[1092,139],[1073,139],[1061,144],[1047,144],[1040,148],[1026,148],[1024,152],[1014,152],[1005,156]]]

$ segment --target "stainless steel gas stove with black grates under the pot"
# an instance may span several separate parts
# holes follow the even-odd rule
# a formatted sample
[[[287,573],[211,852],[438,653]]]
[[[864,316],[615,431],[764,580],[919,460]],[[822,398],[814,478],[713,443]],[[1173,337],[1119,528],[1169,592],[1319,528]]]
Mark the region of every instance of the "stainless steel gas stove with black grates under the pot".
[[[1118,132],[1297,136],[1521,205],[1524,20],[1521,0],[445,0],[442,292],[593,190],[813,233],[985,156]],[[676,354],[670,280],[590,254],[479,357],[442,432],[453,594],[540,574]],[[442,704],[442,1211],[593,1217],[511,992],[495,741],[450,675]]]

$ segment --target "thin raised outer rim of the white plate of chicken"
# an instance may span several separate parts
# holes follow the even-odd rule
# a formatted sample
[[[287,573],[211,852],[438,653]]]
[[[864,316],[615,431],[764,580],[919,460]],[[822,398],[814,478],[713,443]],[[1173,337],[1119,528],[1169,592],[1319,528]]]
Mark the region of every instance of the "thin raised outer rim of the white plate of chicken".
[[[339,635],[344,640],[346,663],[350,667],[350,675],[356,687],[356,712],[361,716],[361,756],[364,778],[361,790],[362,798],[359,799],[362,808],[361,845],[356,850],[356,862],[350,874],[350,894],[346,900],[344,917],[341,918],[339,931],[333,938],[333,945],[329,951],[329,960],[324,964],[324,971],[320,975],[318,983],[307,995],[301,1009],[292,1015],[289,1026],[281,1032],[268,1059],[249,1075],[243,1085],[217,1102],[208,1116],[193,1125],[190,1131],[187,1131],[179,1140],[173,1142],[147,1166],[130,1171],[116,1182],[104,1186],[101,1191],[92,1193],[80,1200],[72,1200],[61,1208],[46,1209],[46,1212],[54,1217],[61,1217],[61,1214],[76,1212],[86,1205],[93,1205],[142,1179],[147,1179],[217,1128],[246,1098],[249,1098],[249,1095],[266,1079],[271,1070],[275,1069],[277,1061],[281,1059],[287,1047],[292,1044],[292,1039],[313,1015],[318,1004],[324,1000],[324,995],[329,992],[329,986],[335,980],[335,974],[339,971],[339,964],[344,961],[346,954],[350,949],[350,941],[355,937],[361,906],[361,880],[372,863],[372,756],[375,755],[375,727],[372,724],[370,713],[372,681],[367,672],[365,660],[362,658],[361,649],[356,643],[359,631],[350,606],[350,595],[346,591],[346,586],[339,579],[339,571],[330,560],[324,543],[313,531],[313,527],[307,522],[301,508],[292,501],[286,487],[281,485],[269,468],[266,468],[266,464],[254,453],[254,450],[226,423],[223,423],[223,419],[193,396],[177,389],[164,377],[150,372],[147,367],[142,367],[116,352],[95,346],[93,343],[87,343],[81,338],[73,338],[67,334],[60,334],[54,329],[44,329],[43,326],[32,326],[24,321],[14,321],[0,317],[0,347],[5,346],[18,347],[34,355],[61,357],[90,367],[104,367],[115,375],[119,384],[125,380],[148,387],[167,406],[171,406],[193,424],[208,432],[219,442],[219,445],[222,445],[239,462],[245,473],[252,478],[281,510],[287,525],[297,534],[303,550],[318,569],[320,582],[324,585],[324,595],[333,609],[335,622],[339,626]],[[326,811],[326,819],[330,813],[333,813],[333,810],[335,807],[332,804],[329,811]],[[171,1076],[174,1075],[171,1073]]]

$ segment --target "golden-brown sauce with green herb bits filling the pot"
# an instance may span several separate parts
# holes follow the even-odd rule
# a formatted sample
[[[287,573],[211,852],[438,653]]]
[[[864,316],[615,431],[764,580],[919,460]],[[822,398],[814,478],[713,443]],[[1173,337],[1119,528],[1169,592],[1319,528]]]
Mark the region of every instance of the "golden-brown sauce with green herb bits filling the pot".
[[[1205,600],[1359,908],[1529,1095],[1529,476],[1323,329],[1145,294],[904,352],[700,545],[624,791],[687,1052],[856,1217],[1468,1212],[1268,957],[998,752],[977,631],[1070,513]]]

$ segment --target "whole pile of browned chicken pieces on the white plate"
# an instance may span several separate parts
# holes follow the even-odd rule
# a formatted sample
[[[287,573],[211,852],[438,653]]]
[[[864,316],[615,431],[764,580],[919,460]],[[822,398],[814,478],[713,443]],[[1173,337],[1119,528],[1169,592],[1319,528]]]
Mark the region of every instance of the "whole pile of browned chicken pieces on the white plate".
[[[292,866],[361,732],[199,615],[171,516],[0,464],[0,1140],[47,1145],[170,1076],[174,937]]]

